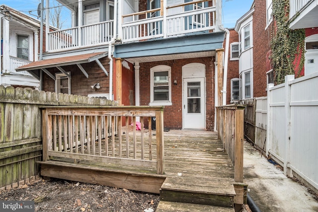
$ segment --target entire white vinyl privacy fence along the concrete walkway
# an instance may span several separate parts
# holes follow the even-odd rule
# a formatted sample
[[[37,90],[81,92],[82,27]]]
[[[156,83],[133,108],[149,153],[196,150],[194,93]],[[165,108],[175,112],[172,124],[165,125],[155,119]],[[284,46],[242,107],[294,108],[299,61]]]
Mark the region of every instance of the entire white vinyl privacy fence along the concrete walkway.
[[[284,174],[318,189],[318,72],[267,88],[267,149]]]

